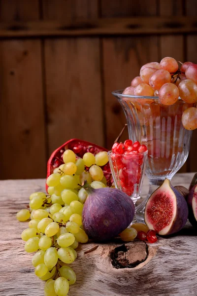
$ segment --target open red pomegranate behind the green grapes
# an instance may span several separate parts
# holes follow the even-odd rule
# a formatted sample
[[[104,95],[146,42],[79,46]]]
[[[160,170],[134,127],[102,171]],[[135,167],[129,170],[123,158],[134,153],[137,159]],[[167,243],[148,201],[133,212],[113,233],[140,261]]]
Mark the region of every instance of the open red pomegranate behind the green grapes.
[[[108,151],[108,149],[106,149],[106,148],[100,147],[96,144],[93,144],[93,143],[90,143],[87,141],[83,141],[83,140],[79,140],[79,139],[71,139],[71,140],[67,141],[65,144],[63,144],[62,146],[60,146],[59,148],[57,148],[51,154],[51,156],[47,162],[47,176],[46,177],[50,176],[53,173],[55,168],[58,168],[61,164],[64,163],[63,153],[67,149],[72,150],[76,154],[77,158],[83,157],[83,155],[86,152],[91,152],[95,155],[100,151]],[[103,170],[103,174],[104,174],[107,182],[111,182],[112,178],[111,178],[111,170],[110,170],[109,162],[101,168]],[[47,188],[48,188],[48,186],[46,185],[46,190],[47,190]]]

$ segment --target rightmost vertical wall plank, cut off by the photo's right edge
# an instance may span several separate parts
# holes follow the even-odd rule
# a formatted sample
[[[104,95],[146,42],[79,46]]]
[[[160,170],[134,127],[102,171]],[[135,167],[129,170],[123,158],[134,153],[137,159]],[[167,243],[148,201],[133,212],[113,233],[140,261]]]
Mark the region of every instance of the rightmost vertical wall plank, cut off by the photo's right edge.
[[[186,0],[186,15],[197,15],[197,2],[195,0]],[[187,61],[191,61],[197,64],[197,36],[188,35],[186,37],[187,46]],[[191,149],[189,154],[189,170],[194,172],[197,168],[197,130],[193,131]]]

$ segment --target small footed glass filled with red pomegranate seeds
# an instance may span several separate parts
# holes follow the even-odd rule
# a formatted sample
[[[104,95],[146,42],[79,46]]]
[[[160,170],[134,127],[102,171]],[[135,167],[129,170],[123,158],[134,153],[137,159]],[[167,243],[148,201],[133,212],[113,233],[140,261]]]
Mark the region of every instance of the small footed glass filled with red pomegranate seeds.
[[[115,187],[127,193],[135,205],[140,198],[147,151],[141,153],[132,151],[127,155],[108,151],[107,154]],[[134,215],[131,224],[135,222],[137,220]]]

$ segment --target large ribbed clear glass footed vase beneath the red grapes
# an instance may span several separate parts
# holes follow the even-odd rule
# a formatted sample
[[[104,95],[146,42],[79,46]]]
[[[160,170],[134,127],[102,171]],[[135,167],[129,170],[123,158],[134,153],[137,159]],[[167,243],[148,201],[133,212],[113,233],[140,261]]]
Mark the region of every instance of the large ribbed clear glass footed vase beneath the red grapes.
[[[149,193],[136,207],[136,218],[144,220],[147,199],[162,185],[164,179],[171,180],[185,163],[192,137],[182,123],[182,113],[191,104],[179,99],[174,105],[164,106],[158,97],[123,95],[122,90],[112,92],[119,100],[128,124],[129,138],[148,148],[145,174],[149,178]]]

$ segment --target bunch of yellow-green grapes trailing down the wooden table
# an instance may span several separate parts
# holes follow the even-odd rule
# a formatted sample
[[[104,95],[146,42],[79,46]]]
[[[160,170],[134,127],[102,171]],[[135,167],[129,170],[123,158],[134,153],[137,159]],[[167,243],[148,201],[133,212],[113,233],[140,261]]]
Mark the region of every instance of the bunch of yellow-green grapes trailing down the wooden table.
[[[69,285],[76,281],[74,270],[66,264],[77,258],[79,243],[87,243],[82,226],[83,204],[87,198],[81,186],[85,180],[94,188],[106,187],[106,179],[99,167],[108,162],[107,152],[96,156],[87,152],[76,160],[72,150],[63,155],[64,164],[47,178],[49,195],[34,192],[30,195],[30,210],[17,213],[19,221],[29,221],[21,238],[25,251],[36,252],[32,259],[35,275],[46,281],[45,296],[66,296]],[[85,170],[89,168],[89,172]]]

